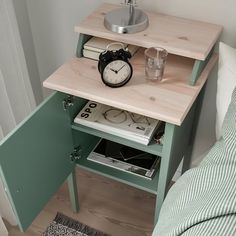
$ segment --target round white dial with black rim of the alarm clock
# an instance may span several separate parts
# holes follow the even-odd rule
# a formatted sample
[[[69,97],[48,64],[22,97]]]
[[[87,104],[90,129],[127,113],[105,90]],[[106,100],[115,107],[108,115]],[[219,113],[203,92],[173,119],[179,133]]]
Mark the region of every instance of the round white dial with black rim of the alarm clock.
[[[102,80],[110,87],[120,87],[130,80],[132,72],[132,67],[127,61],[114,60],[104,68]]]

